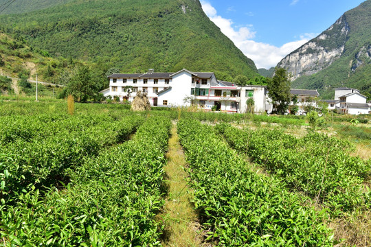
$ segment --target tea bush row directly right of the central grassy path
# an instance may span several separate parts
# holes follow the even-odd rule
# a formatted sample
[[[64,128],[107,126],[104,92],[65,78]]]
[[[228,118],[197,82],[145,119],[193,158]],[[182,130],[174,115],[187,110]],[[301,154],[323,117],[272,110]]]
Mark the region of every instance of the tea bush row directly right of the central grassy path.
[[[192,119],[178,122],[190,163],[195,207],[208,239],[220,246],[332,246],[324,211],[304,206],[284,183],[249,169],[214,128]]]

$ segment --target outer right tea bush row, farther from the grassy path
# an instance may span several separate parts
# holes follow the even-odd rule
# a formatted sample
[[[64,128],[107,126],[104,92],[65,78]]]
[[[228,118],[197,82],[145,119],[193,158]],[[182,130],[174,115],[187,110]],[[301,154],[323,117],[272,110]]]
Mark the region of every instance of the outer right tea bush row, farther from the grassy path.
[[[297,139],[279,130],[240,130],[227,124],[216,129],[232,148],[333,213],[370,207],[370,189],[363,182],[371,175],[371,163],[350,156],[347,141],[316,132]]]

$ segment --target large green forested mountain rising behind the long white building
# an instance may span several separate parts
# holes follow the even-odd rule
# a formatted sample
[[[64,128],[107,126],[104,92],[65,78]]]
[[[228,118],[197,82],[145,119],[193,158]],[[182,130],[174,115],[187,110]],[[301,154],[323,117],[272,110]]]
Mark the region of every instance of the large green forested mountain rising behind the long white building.
[[[52,57],[127,73],[186,68],[215,71],[221,79],[258,75],[199,0],[18,0],[1,13],[0,30]]]

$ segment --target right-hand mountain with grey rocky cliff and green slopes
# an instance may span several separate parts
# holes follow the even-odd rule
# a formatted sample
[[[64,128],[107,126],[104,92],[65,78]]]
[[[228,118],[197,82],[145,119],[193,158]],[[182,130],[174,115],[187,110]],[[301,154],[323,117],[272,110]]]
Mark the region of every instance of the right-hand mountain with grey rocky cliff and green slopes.
[[[344,13],[277,66],[293,75],[293,87],[318,89],[324,98],[339,86],[371,94],[371,1]]]

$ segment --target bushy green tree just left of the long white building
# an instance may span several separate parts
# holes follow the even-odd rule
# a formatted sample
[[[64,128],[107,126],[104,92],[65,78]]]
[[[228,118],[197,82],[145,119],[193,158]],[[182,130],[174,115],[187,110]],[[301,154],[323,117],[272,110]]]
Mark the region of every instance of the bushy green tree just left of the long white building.
[[[98,93],[98,86],[92,80],[91,70],[89,67],[82,65],[76,74],[71,78],[67,86],[68,94],[74,95],[79,102],[87,102]]]

